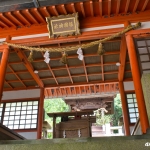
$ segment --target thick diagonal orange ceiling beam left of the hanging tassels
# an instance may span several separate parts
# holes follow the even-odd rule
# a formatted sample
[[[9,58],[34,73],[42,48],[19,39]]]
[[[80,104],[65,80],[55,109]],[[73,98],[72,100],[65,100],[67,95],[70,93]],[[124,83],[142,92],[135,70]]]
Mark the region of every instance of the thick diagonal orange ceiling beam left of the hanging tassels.
[[[20,49],[15,49],[15,51],[16,51],[17,55],[19,56],[19,58],[24,61],[24,65],[26,66],[26,68],[28,69],[29,73],[34,78],[34,80],[36,81],[38,86],[41,88],[44,87],[44,84],[40,80],[39,76],[34,73],[33,67],[31,65],[31,63],[27,60],[25,54]]]

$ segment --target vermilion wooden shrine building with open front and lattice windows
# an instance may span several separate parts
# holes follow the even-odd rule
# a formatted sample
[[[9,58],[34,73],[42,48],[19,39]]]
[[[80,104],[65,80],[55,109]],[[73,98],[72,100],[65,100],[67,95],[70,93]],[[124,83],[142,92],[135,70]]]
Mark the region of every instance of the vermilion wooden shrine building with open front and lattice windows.
[[[48,64],[42,52],[35,52],[33,62],[29,62],[29,50],[1,44],[1,123],[22,135],[32,132],[33,138],[40,139],[44,98],[120,93],[125,134],[130,135],[138,117],[136,131],[146,133],[149,120],[141,78],[150,73],[150,1],[25,1],[0,2],[1,42],[60,48],[108,37],[137,22],[141,27],[103,43],[104,55],[97,54],[98,45],[83,49],[82,61],[76,51],[70,51],[65,65],[59,62],[59,52],[50,53]],[[46,17],[76,12],[81,35],[49,38]]]

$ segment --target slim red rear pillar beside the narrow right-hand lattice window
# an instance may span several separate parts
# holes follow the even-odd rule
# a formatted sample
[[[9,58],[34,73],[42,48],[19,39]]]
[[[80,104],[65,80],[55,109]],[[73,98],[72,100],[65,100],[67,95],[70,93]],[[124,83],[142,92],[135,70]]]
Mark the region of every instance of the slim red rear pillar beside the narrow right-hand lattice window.
[[[128,116],[128,107],[126,102],[126,96],[124,92],[124,85],[123,82],[119,82],[119,90],[120,90],[120,96],[121,96],[121,103],[122,103],[122,114],[123,114],[123,121],[124,121],[124,130],[125,135],[130,135],[130,127],[129,127],[129,116]]]

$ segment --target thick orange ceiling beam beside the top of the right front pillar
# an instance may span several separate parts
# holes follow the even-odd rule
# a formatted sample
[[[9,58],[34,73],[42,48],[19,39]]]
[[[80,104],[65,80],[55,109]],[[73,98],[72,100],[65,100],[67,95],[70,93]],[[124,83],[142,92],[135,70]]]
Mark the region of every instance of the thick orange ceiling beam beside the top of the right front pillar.
[[[125,65],[126,65],[126,55],[127,55],[127,45],[125,36],[122,36],[121,45],[120,45],[120,66],[119,66],[119,74],[118,80],[123,81],[124,73],[125,73]]]

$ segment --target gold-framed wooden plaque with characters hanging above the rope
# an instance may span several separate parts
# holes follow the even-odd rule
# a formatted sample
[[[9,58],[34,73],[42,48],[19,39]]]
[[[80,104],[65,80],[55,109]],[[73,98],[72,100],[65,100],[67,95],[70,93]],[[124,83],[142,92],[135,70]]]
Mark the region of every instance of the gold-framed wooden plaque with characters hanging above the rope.
[[[78,13],[47,17],[47,27],[50,37],[80,34]]]

